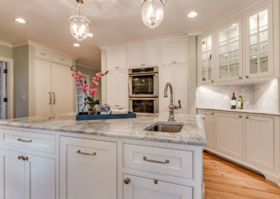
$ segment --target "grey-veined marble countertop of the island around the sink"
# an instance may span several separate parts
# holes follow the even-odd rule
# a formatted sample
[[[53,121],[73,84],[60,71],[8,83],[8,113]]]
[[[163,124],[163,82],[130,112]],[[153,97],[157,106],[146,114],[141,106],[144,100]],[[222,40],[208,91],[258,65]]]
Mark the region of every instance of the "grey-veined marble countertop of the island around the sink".
[[[73,132],[87,135],[101,135],[127,139],[141,139],[153,142],[169,142],[206,146],[207,140],[203,127],[203,116],[175,116],[176,122],[183,123],[181,132],[146,131],[148,125],[158,121],[167,121],[167,115],[137,115],[137,118],[76,121],[76,114],[61,114],[55,118],[28,117],[0,121],[0,125],[29,128],[33,130],[50,130],[56,132]]]

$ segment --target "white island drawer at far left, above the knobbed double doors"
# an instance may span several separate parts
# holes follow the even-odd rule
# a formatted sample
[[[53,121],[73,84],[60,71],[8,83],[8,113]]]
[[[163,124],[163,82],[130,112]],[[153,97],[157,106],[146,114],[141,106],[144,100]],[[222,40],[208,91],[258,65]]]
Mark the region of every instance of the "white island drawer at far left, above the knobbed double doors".
[[[55,153],[55,135],[0,129],[0,143],[45,153]]]

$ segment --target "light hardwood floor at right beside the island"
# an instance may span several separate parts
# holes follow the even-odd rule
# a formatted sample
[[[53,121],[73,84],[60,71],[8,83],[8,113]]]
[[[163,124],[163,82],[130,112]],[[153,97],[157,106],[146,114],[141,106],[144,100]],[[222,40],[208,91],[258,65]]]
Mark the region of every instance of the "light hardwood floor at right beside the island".
[[[203,152],[205,198],[280,199],[280,187],[261,174]]]

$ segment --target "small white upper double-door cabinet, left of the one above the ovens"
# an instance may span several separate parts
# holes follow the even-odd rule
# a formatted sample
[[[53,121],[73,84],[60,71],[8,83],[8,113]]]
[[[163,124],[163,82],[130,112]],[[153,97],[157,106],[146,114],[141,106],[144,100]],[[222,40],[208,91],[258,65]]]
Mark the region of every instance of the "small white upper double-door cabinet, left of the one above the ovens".
[[[107,70],[127,68],[127,50],[113,50],[107,54]]]

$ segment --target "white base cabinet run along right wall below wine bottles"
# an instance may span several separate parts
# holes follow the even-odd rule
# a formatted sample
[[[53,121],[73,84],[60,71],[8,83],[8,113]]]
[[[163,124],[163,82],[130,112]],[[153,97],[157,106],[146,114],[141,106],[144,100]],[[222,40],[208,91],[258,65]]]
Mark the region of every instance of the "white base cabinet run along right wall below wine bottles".
[[[279,116],[199,109],[205,116],[207,151],[257,170],[279,183]]]

